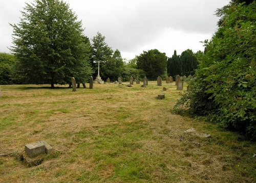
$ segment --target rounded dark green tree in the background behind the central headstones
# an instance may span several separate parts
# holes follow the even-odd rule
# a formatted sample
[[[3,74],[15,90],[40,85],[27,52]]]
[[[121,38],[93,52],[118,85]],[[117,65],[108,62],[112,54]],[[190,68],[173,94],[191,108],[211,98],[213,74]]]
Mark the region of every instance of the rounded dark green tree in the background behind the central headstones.
[[[137,58],[137,68],[145,71],[147,79],[156,80],[164,76],[167,57],[157,49],[143,51]]]

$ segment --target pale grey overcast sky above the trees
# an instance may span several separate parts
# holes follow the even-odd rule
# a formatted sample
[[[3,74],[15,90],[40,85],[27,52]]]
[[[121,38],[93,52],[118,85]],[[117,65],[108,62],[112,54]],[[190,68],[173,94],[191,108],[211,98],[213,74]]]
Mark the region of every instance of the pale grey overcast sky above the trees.
[[[65,1],[65,0],[63,0]],[[20,11],[32,0],[2,0],[0,6],[0,52],[9,53],[12,27]],[[84,35],[92,39],[100,32],[105,42],[122,58],[133,59],[144,51],[158,49],[167,57],[174,50],[203,50],[200,41],[217,30],[215,11],[229,0],[66,0],[82,20]]]

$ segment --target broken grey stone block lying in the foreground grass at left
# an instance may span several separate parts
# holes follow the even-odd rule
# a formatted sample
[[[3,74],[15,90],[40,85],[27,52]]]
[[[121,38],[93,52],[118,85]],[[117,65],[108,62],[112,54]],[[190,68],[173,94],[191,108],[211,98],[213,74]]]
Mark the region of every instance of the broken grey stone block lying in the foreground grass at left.
[[[25,145],[25,151],[29,158],[35,158],[40,154],[48,154],[53,148],[46,141],[38,141]]]

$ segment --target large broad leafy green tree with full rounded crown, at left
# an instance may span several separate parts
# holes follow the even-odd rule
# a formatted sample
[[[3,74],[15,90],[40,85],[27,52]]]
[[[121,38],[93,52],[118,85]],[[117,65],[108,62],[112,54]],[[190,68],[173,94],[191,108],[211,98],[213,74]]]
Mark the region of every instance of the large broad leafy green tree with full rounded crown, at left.
[[[26,83],[66,84],[71,77],[82,81],[92,73],[90,46],[82,23],[67,3],[36,0],[26,3],[23,18],[13,27],[12,53],[16,71]]]

